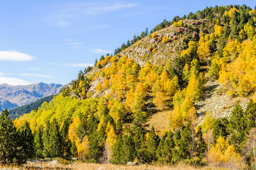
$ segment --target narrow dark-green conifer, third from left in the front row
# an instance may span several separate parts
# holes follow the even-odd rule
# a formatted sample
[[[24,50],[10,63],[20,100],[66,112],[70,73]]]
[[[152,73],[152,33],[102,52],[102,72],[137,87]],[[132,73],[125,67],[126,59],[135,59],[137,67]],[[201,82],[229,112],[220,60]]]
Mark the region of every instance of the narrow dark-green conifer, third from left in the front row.
[[[34,137],[34,145],[35,145],[35,158],[42,158],[43,157],[43,132],[41,128],[38,128],[37,131],[35,131],[35,137]]]

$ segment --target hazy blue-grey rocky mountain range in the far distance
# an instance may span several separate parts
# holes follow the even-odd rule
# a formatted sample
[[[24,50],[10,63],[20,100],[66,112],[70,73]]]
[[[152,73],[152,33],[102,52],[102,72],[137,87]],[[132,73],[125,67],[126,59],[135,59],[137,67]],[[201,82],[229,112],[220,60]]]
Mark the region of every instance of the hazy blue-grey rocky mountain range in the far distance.
[[[61,84],[38,83],[26,86],[0,84],[0,111],[4,108],[12,109],[24,106],[45,96],[59,94],[60,89],[62,89]]]

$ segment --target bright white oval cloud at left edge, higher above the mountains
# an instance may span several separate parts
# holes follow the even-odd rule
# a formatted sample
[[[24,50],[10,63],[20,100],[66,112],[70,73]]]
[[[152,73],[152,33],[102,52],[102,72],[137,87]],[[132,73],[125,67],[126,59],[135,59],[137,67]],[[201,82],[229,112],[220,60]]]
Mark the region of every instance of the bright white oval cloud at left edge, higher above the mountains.
[[[0,61],[26,62],[33,59],[34,57],[27,55],[26,53],[16,51],[0,51]]]

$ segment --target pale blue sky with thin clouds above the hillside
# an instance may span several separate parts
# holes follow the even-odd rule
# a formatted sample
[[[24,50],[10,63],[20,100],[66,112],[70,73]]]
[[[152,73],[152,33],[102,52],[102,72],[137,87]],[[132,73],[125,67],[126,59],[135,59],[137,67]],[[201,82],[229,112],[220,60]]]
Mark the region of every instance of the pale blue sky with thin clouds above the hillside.
[[[0,1],[0,84],[67,84],[164,19],[254,1]]]

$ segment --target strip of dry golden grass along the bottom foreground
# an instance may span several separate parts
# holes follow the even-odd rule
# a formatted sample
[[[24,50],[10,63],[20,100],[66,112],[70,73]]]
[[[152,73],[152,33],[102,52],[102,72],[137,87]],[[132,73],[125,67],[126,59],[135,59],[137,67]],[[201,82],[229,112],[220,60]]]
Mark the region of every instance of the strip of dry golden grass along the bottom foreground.
[[[113,165],[113,164],[69,164],[69,165],[62,165],[62,164],[23,164],[23,166],[0,166],[0,169],[43,169],[43,170],[72,170],[72,169],[83,169],[83,170],[98,170],[100,167],[105,167],[106,170],[143,170],[143,169],[154,169],[154,170],[226,170],[223,168],[217,168],[213,166],[187,166],[187,165],[176,165],[176,166],[156,166],[156,165],[140,165],[140,166],[123,166],[123,165]],[[104,170],[102,168],[101,170]]]

